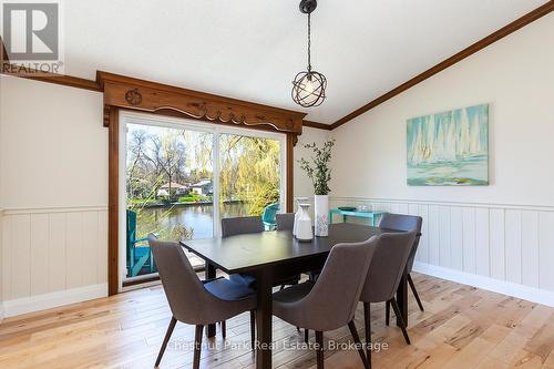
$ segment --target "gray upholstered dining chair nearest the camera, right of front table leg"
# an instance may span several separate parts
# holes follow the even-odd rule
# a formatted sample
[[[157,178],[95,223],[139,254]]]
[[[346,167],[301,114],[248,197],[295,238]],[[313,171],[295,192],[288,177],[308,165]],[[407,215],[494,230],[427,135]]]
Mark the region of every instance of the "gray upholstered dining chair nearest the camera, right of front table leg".
[[[378,240],[379,237],[371,237],[363,243],[334,246],[317,281],[306,281],[273,295],[275,316],[316,331],[318,369],[324,368],[324,331],[346,325],[365,368],[369,368],[353,317]]]

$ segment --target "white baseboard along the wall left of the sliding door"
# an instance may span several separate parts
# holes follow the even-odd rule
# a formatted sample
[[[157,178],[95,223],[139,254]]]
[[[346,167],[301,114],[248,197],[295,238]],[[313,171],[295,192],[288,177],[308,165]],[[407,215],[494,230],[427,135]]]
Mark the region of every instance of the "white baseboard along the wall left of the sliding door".
[[[4,301],[0,311],[3,310],[4,318],[8,318],[106,296],[107,284],[92,285]]]

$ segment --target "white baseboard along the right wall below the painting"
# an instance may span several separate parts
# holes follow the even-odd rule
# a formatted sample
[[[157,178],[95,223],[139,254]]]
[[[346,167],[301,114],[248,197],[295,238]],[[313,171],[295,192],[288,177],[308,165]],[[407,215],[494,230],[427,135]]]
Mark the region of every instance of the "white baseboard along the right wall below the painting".
[[[548,290],[527,287],[510,281],[497,280],[489,277],[483,277],[465,271],[453,270],[419,262],[414,263],[413,270],[427,274],[429,276],[448,279],[460,284],[478,287],[481,289],[491,290],[493,293],[517,297],[532,303],[537,303],[554,307],[554,293]]]

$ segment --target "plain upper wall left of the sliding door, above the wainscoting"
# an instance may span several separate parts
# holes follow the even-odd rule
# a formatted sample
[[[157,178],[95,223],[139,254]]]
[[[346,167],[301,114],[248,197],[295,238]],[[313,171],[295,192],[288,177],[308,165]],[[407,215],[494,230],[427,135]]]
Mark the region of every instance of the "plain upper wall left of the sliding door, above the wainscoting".
[[[107,205],[102,95],[2,76],[4,208]]]

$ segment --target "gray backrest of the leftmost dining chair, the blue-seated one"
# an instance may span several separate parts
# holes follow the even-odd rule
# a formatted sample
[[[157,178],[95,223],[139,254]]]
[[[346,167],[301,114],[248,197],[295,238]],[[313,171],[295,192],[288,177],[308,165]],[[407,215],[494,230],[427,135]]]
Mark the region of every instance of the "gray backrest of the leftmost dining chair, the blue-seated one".
[[[214,298],[196,276],[182,246],[176,242],[157,240],[152,235],[148,244],[173,316],[192,325],[206,321],[209,308],[215,308]]]

